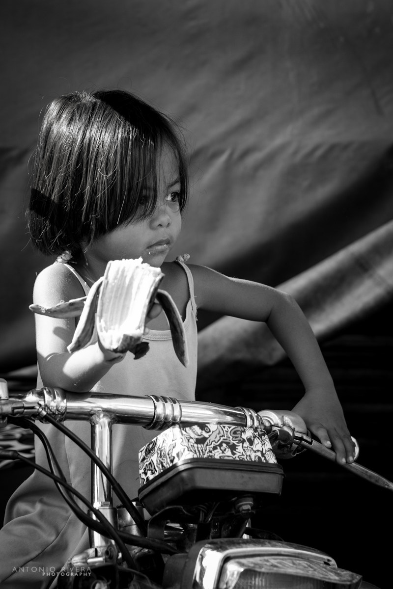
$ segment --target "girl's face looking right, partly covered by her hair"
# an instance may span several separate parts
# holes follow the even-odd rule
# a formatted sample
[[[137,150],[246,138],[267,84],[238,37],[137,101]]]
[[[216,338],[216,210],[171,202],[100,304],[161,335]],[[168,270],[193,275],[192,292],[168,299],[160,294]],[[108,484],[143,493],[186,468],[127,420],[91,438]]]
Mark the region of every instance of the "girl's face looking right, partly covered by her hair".
[[[181,229],[179,166],[169,148],[163,148],[157,168],[158,198],[148,219],[121,225],[94,241],[90,254],[108,260],[135,259],[159,267],[173,247]],[[149,198],[148,186],[146,198]]]

